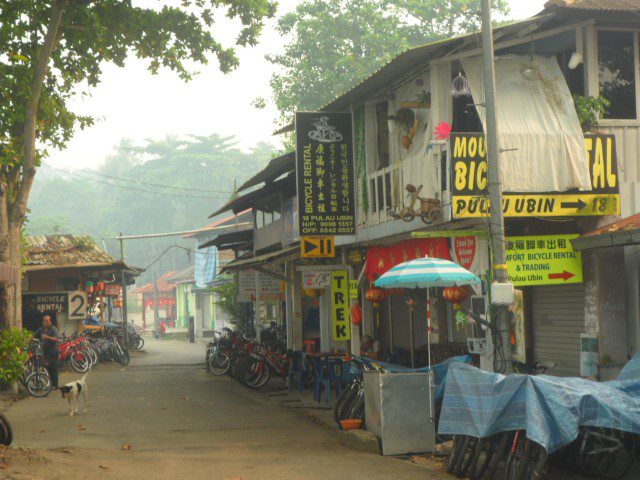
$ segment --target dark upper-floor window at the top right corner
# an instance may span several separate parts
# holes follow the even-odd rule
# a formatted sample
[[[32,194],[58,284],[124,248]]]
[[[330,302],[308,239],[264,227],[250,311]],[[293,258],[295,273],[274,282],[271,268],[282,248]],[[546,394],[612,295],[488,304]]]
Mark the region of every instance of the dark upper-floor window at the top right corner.
[[[605,119],[636,118],[633,32],[598,32],[600,95],[611,102]]]

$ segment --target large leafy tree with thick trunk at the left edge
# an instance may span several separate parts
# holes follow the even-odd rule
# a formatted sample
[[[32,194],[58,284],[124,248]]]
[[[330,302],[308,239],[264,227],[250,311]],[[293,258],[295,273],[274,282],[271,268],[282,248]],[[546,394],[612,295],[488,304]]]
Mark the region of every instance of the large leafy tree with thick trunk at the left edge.
[[[235,43],[255,45],[270,0],[182,0],[181,7],[134,7],[131,0],[3,0],[0,8],[0,262],[20,265],[20,235],[37,167],[50,148],[63,148],[90,117],[68,101],[100,81],[102,66],[120,67],[130,54],[149,70],[168,68],[189,80],[192,65],[215,55],[228,72],[237,66],[233,48],[211,30],[224,5],[239,21]],[[20,282],[18,282],[20,285]],[[0,328],[11,325],[20,305],[0,285]],[[20,308],[17,309],[20,312]],[[18,318],[18,325],[21,323]]]

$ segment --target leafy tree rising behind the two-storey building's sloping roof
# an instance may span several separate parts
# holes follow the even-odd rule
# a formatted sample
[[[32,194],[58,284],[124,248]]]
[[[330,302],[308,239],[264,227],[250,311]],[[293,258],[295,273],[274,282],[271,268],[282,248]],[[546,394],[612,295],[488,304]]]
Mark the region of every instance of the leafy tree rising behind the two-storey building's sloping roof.
[[[506,0],[494,2],[502,14]],[[268,55],[281,121],[317,109],[409,47],[479,25],[480,0],[306,0],[278,20],[284,52]],[[256,106],[263,105],[257,99]]]

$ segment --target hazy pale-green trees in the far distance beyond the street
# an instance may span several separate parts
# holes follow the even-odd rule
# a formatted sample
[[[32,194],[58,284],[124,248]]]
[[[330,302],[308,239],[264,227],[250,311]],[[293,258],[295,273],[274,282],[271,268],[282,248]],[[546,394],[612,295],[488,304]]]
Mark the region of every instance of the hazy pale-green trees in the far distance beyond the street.
[[[230,198],[234,181],[244,182],[271,159],[273,151],[270,144],[258,144],[244,152],[236,146],[233,137],[216,134],[168,136],[147,140],[142,145],[123,140],[94,173],[41,168],[29,202],[27,232],[30,235],[74,233],[100,239],[119,232],[190,230],[206,224],[211,212]],[[133,266],[145,267],[175,243],[194,248],[193,239],[131,241],[125,245],[125,260]],[[117,242],[99,242],[99,245],[119,258]],[[145,272],[141,280],[151,281],[154,271],[161,275],[180,270],[190,260],[185,250],[174,248]]]

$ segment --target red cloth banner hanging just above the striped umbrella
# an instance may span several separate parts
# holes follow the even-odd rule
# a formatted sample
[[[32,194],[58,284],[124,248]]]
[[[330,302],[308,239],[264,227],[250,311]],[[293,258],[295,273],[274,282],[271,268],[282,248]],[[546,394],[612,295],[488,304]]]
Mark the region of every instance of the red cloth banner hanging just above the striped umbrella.
[[[369,281],[373,282],[390,268],[422,257],[451,260],[447,239],[416,238],[386,247],[369,247],[364,271]]]

